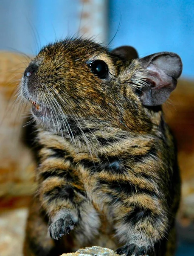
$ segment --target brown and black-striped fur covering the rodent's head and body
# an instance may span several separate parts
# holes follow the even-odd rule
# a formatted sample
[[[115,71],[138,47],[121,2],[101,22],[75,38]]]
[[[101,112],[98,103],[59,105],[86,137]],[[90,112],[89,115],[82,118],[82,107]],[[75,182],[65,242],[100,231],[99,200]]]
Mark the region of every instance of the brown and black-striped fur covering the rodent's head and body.
[[[107,63],[107,79],[88,67],[99,59]],[[143,106],[135,93],[148,80],[139,59],[82,39],[48,45],[29,64],[22,93],[34,105],[39,189],[26,256],[89,245],[123,246],[118,253],[129,255],[131,244],[135,256],[154,248],[157,256],[173,255],[176,149],[160,106]]]

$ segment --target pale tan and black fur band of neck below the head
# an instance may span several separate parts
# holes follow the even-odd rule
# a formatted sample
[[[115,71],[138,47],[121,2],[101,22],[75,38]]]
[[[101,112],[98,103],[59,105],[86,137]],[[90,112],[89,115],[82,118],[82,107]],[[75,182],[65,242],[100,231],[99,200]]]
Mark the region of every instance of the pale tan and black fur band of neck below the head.
[[[155,144],[155,136],[151,134],[130,134],[128,131],[116,128],[107,128],[106,131],[88,128],[80,133],[77,132],[74,136],[72,134],[59,136],[39,129],[38,138],[40,143],[46,147],[56,145],[57,148],[73,152],[73,155],[86,153],[95,157],[100,155],[121,156],[134,150],[141,153]]]

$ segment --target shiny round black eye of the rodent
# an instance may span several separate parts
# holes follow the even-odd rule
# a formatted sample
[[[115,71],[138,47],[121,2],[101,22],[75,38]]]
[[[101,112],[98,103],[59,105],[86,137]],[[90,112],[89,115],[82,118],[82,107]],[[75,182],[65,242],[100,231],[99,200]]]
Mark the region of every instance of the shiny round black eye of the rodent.
[[[106,79],[108,76],[108,66],[104,61],[96,60],[89,64],[92,73],[101,79]]]

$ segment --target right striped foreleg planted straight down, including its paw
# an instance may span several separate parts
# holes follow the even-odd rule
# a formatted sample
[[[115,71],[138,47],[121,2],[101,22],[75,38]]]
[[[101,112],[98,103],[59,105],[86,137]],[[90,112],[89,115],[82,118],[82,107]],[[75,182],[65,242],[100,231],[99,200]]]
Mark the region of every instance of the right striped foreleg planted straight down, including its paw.
[[[136,177],[134,172],[126,171],[111,178],[109,173],[101,180],[98,195],[104,200],[108,196],[115,233],[126,244],[119,248],[119,254],[144,255],[167,235],[169,211],[162,185],[154,176]]]

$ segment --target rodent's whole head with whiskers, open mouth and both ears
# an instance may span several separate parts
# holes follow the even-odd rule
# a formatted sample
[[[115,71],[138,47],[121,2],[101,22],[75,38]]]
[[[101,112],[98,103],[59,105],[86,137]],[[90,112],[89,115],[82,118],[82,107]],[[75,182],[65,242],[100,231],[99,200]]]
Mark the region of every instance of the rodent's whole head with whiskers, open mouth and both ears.
[[[182,63],[171,52],[139,59],[131,49],[109,52],[82,39],[44,47],[22,78],[35,119],[56,132],[94,127],[149,131],[152,106],[165,102],[176,87]]]

